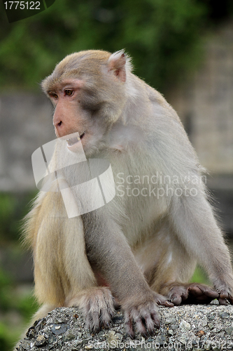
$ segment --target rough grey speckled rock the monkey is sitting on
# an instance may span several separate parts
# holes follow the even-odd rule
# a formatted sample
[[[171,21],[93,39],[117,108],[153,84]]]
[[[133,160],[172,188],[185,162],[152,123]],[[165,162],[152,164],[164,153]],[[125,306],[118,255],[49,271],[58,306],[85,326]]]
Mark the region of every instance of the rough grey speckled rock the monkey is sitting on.
[[[110,329],[93,334],[85,329],[78,308],[57,308],[37,321],[17,350],[233,350],[233,307],[184,305],[160,307],[161,328],[155,336],[131,340],[120,312]]]

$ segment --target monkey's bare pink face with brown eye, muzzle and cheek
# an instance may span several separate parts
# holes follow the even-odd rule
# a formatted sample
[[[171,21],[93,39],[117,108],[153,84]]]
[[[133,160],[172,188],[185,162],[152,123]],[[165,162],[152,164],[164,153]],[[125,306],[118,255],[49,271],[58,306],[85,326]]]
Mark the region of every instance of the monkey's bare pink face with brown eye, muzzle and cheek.
[[[79,152],[80,148],[83,148],[87,157],[91,157],[106,143],[108,149],[120,150],[121,147],[116,145],[113,138],[106,138],[108,127],[112,122],[107,122],[99,111],[99,115],[93,117],[92,110],[88,109],[89,97],[86,91],[88,87],[90,88],[90,83],[84,79],[68,78],[51,85],[47,91],[55,107],[53,125],[57,138],[66,140],[71,152]],[[90,98],[90,106],[91,104]],[[109,140],[113,141],[113,147],[109,144]]]

